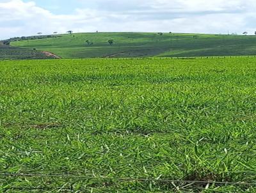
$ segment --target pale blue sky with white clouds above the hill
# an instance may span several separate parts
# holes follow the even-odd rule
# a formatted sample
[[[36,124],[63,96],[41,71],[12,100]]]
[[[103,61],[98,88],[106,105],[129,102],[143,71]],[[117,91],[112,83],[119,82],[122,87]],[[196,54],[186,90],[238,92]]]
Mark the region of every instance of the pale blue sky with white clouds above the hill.
[[[255,0],[0,0],[0,40],[68,30],[254,34],[255,10]]]

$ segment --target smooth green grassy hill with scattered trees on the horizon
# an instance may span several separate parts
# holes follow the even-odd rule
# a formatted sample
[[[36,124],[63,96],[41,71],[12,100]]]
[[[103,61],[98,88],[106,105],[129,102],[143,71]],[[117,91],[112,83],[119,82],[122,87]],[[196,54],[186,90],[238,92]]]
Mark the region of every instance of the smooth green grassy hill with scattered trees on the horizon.
[[[93,45],[87,45],[86,40]],[[109,45],[108,40],[114,40],[114,44]],[[256,55],[256,36],[238,35],[79,33],[12,42],[12,45],[47,50],[61,58]]]

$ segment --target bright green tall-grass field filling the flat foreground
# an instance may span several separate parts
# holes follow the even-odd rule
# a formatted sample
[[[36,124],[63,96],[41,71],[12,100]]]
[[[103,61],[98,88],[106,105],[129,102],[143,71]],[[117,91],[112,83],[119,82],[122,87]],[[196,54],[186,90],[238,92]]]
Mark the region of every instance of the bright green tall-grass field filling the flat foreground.
[[[0,192],[256,192],[255,63],[0,61]]]

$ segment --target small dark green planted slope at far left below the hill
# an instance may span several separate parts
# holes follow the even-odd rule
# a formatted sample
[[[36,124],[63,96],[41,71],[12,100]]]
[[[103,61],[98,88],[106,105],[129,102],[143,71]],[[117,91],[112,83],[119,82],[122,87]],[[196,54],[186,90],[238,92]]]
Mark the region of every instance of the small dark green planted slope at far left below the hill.
[[[10,47],[0,42],[0,60],[3,59],[51,59],[51,57],[37,50]]]

